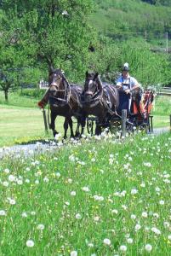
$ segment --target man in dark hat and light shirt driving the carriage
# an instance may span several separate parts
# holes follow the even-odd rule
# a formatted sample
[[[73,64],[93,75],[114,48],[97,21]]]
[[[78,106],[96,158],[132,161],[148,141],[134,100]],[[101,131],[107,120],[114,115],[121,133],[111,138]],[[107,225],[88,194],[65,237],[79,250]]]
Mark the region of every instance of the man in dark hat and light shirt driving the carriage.
[[[131,103],[132,103],[132,94],[134,90],[140,89],[140,84],[137,82],[134,77],[131,77],[128,73],[129,67],[128,63],[124,63],[122,68],[122,74],[117,79],[117,88],[122,89],[127,95],[128,95],[128,113],[131,112]],[[140,96],[139,96],[139,102],[140,104]]]

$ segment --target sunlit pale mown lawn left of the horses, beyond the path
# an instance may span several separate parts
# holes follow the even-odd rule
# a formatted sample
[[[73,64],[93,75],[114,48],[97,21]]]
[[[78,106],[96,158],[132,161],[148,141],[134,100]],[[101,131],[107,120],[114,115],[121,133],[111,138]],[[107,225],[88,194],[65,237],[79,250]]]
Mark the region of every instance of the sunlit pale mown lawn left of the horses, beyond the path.
[[[0,146],[22,143],[34,139],[52,138],[52,132],[46,135],[43,113],[38,108],[20,108],[0,105]],[[57,118],[56,129],[63,132],[63,121]]]

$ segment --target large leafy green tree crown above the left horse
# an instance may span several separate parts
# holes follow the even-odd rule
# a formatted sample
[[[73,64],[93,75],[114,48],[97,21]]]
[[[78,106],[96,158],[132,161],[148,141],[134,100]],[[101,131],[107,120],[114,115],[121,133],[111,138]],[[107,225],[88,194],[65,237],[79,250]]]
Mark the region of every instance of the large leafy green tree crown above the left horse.
[[[93,10],[92,3],[92,0],[4,0],[3,32],[13,32],[15,43],[33,62],[62,67],[66,72],[72,68],[79,76],[88,54],[91,34],[88,15]],[[76,62],[82,62],[83,67],[75,65]]]

